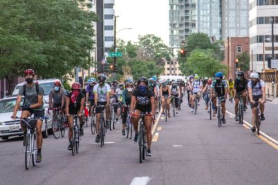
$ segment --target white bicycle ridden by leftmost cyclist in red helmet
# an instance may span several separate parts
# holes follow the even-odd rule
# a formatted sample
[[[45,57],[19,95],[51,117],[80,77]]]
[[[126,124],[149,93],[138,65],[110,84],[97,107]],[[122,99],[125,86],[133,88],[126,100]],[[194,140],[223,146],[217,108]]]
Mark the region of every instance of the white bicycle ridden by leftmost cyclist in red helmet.
[[[37,142],[35,140],[35,131],[37,125],[37,119],[48,119],[48,117],[17,117],[20,119],[22,124],[26,124],[27,133],[26,133],[26,146],[25,146],[25,168],[29,169],[30,158],[32,157],[32,164],[36,166],[37,162]]]

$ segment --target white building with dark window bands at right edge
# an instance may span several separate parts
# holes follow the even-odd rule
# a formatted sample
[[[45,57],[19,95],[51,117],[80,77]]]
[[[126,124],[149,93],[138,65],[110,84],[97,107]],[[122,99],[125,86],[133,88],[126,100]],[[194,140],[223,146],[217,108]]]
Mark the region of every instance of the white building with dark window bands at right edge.
[[[278,1],[250,0],[249,2],[250,70],[261,72],[263,68],[268,69],[268,57],[272,57],[272,23],[274,24],[274,48],[278,46]],[[274,52],[272,58],[278,59],[277,50]]]

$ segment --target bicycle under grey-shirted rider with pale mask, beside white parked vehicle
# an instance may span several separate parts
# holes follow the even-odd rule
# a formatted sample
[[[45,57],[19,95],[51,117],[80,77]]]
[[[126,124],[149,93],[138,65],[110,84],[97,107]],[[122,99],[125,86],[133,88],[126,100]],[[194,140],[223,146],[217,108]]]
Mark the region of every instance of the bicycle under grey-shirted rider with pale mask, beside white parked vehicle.
[[[60,135],[64,137],[65,135],[65,126],[64,126],[64,116],[62,115],[61,108],[51,108],[55,112],[55,116],[52,119],[52,130],[53,136],[55,139],[59,139]]]

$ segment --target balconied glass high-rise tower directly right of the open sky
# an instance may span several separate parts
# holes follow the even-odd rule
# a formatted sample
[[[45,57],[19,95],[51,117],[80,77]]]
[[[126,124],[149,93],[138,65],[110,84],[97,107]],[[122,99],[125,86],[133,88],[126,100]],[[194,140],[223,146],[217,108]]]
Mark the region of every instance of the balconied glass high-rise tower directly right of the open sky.
[[[221,39],[221,0],[169,0],[169,46],[193,32],[203,32]]]

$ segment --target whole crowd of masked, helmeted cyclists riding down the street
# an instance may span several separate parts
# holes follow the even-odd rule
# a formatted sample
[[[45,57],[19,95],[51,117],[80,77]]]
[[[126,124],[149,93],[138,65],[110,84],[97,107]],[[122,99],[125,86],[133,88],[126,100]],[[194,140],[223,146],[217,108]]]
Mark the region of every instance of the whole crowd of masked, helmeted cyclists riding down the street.
[[[44,117],[44,89],[34,82],[35,72],[32,69],[24,71],[26,85],[19,89],[19,95],[12,118],[16,119],[17,111],[20,109],[21,99],[24,96],[24,103],[21,107],[21,117],[30,117],[34,114],[37,119],[37,162],[41,162],[41,146],[42,146],[42,117]],[[232,84],[232,85],[231,85]],[[113,80],[112,83],[106,82],[106,75],[98,75],[98,79],[90,78],[86,83],[86,88],[82,89],[80,83],[73,83],[71,85],[71,92],[66,92],[62,88],[62,83],[59,80],[55,81],[53,89],[49,93],[49,110],[58,108],[66,115],[68,124],[68,150],[72,150],[71,139],[73,137],[73,115],[77,115],[80,120],[80,135],[84,135],[83,125],[84,118],[82,116],[85,107],[89,107],[89,115],[95,115],[96,118],[96,137],[95,142],[100,142],[100,113],[102,107],[105,108],[105,127],[109,128],[109,115],[111,111],[115,112],[115,120],[118,122],[119,117],[122,115],[122,135],[126,135],[125,128],[127,124],[127,114],[131,115],[131,122],[133,124],[135,135],[134,142],[138,142],[138,121],[140,113],[145,113],[144,122],[147,135],[147,156],[151,156],[151,125],[154,122],[155,115],[161,106],[162,113],[165,114],[167,109],[167,116],[170,116],[171,101],[175,101],[175,107],[183,102],[183,95],[187,93],[188,105],[193,111],[195,99],[200,101],[200,97],[205,100],[205,110],[208,108],[210,99],[213,102],[213,116],[216,114],[216,97],[221,98],[222,106],[222,121],[225,124],[225,102],[228,93],[234,94],[235,99],[235,119],[237,120],[237,108],[239,104],[239,96],[244,97],[244,109],[247,109],[246,101],[249,97],[252,108],[252,132],[254,128],[254,103],[259,102],[261,110],[261,120],[264,120],[263,115],[264,106],[266,102],[266,88],[263,80],[259,79],[256,72],[252,72],[250,80],[245,79],[244,72],[237,72],[237,79],[234,81],[230,79],[228,82],[224,79],[223,72],[216,72],[214,79],[205,78],[201,79],[198,75],[192,75],[188,81],[183,79],[166,80],[161,79],[158,81],[156,77],[147,79],[140,77],[137,81],[127,79],[124,82]],[[232,93],[231,93],[232,92]],[[230,97],[232,98],[232,97]],[[113,110],[111,106],[113,105]],[[49,113],[48,110],[48,113]],[[177,113],[177,112],[176,112]],[[55,111],[53,111],[55,114]],[[26,126],[21,122],[21,128],[26,135]],[[26,137],[24,137],[24,146],[26,145]]]

